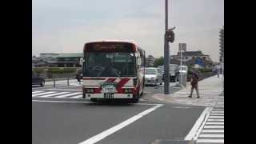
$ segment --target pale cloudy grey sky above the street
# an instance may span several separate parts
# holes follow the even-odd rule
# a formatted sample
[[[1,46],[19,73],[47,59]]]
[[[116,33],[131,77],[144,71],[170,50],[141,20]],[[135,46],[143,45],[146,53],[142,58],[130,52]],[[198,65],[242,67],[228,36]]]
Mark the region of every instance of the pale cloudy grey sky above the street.
[[[218,62],[224,0],[169,0],[170,54],[178,43]],[[86,42],[132,39],[146,55],[164,55],[165,0],[32,0],[32,55],[82,53]]]

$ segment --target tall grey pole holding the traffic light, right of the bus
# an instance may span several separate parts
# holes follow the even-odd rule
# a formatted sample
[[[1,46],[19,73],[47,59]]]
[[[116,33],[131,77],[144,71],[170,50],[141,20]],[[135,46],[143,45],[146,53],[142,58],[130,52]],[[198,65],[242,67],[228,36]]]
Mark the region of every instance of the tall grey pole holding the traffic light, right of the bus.
[[[166,31],[168,30],[168,0],[166,0]],[[165,31],[164,44],[164,94],[170,94],[170,51],[169,43],[167,42],[167,35]]]

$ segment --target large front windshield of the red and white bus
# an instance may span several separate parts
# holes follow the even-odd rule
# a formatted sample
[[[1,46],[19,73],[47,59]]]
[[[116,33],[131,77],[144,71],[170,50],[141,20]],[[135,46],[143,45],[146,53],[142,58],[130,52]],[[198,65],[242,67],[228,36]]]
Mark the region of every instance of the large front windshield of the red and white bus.
[[[133,52],[89,52],[85,54],[84,77],[134,77]]]

